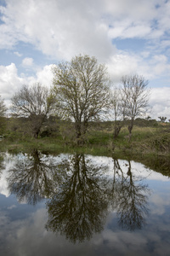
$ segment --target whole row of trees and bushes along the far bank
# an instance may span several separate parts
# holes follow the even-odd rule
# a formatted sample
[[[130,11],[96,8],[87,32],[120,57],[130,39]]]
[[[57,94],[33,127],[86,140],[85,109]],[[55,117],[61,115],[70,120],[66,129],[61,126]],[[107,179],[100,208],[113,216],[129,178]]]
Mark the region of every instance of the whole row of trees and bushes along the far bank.
[[[24,84],[11,98],[8,129],[32,137],[71,136],[77,144],[86,141],[91,123],[112,119],[113,138],[127,125],[129,140],[133,125],[148,111],[148,81],[138,74],[122,77],[118,87],[111,84],[105,65],[88,55],[54,66],[53,86]],[[0,132],[5,133],[6,107],[0,98]],[[136,119],[136,120],[135,120]],[[155,120],[142,120],[156,125]],[[135,123],[134,123],[135,122]]]

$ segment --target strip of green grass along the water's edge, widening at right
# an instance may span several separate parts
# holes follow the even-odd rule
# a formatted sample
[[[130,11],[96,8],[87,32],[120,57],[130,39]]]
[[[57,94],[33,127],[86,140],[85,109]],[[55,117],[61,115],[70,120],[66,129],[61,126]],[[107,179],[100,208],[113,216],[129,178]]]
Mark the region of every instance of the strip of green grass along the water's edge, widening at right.
[[[128,140],[127,127],[123,127],[116,140],[112,139],[111,127],[98,126],[87,134],[87,143],[77,146],[63,137],[43,137],[33,139],[12,135],[0,142],[1,151],[28,151],[37,148],[48,152],[81,152],[99,155],[170,155],[170,132],[165,127],[133,127],[131,140]],[[114,148],[114,150],[113,150]]]

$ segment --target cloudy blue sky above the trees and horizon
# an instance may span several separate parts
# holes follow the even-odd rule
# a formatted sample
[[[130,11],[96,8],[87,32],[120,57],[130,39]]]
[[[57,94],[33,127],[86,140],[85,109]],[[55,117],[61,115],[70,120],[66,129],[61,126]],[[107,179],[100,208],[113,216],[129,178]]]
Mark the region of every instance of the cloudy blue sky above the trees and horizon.
[[[149,80],[150,117],[170,119],[170,0],[0,0],[0,96],[51,86],[52,67],[95,56],[111,83]]]

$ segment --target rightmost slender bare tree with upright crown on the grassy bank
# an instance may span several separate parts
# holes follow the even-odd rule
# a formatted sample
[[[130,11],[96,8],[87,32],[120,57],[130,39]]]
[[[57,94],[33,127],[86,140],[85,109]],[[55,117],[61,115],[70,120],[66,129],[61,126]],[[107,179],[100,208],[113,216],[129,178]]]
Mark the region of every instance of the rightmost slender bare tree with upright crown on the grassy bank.
[[[134,119],[142,116],[147,110],[149,100],[147,85],[148,80],[138,74],[122,77],[122,107],[123,114],[130,119],[129,138],[132,135]]]

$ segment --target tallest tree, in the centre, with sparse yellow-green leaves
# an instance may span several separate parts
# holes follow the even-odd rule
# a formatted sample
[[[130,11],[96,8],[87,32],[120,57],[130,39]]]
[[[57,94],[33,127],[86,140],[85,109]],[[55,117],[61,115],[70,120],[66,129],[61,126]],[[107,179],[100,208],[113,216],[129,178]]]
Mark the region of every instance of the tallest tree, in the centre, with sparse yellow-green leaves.
[[[95,57],[77,55],[54,67],[54,95],[58,113],[74,121],[77,143],[83,141],[89,121],[109,107],[109,79],[105,65]]]

